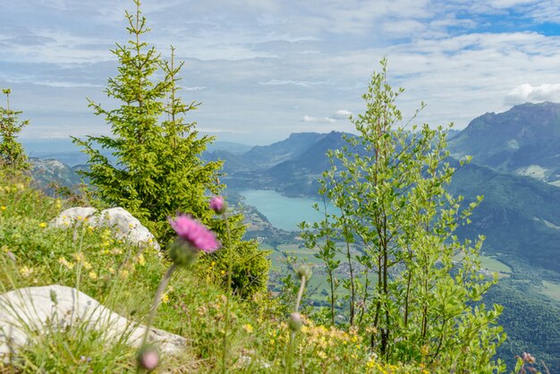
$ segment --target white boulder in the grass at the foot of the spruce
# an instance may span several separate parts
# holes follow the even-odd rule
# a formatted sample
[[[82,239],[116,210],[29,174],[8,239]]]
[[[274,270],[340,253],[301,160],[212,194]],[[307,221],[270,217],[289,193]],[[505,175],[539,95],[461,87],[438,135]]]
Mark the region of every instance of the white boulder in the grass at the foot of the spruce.
[[[140,221],[132,217],[124,208],[109,208],[98,213],[96,208],[69,208],[55,217],[50,225],[55,227],[69,227],[84,222],[94,227],[106,226],[115,230],[115,237],[125,239],[132,244],[150,245],[159,250],[156,238]]]

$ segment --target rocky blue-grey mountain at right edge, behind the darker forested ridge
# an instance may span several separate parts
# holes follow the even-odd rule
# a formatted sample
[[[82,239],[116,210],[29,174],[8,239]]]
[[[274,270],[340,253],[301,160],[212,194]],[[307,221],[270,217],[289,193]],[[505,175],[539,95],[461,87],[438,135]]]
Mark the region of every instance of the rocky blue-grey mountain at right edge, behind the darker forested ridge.
[[[455,157],[560,186],[560,104],[526,103],[487,113],[449,141]]]

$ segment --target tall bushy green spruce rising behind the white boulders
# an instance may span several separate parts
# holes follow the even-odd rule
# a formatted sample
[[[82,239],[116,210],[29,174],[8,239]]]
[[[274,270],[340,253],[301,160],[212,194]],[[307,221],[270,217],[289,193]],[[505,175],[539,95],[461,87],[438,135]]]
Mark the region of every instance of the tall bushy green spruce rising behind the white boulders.
[[[224,188],[217,178],[222,163],[205,163],[199,157],[214,138],[199,136],[196,123],[185,122],[184,115],[199,103],[185,104],[178,95],[182,63],[175,63],[173,47],[170,61],[164,61],[141,40],[149,29],[140,0],[134,4],[136,12],[125,14],[132,39],[112,51],[119,73],[108,80],[106,88],[107,96],[121,105],[106,109],[89,100],[95,114],[111,126],[112,136],[74,138],[89,154],[89,170],[81,174],[89,178],[99,200],[129,210],[163,245],[173,234],[167,217],[177,211],[197,217],[223,239],[225,225],[208,208],[208,194]],[[110,150],[115,160],[106,157],[103,149]],[[268,262],[256,242],[242,242],[242,218],[229,218],[237,259],[233,285],[240,293],[253,293],[266,286]]]

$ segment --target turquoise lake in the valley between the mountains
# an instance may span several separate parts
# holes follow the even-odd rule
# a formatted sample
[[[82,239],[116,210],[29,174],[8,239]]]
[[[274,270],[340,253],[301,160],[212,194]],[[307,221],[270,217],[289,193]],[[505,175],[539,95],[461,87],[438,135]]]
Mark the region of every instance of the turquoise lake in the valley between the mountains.
[[[312,207],[316,202],[319,208],[322,207],[323,203],[318,199],[287,198],[276,191],[268,190],[246,190],[239,193],[247,204],[257,208],[273,226],[282,230],[299,230],[297,225],[301,221],[311,223],[324,218]],[[329,212],[332,212],[332,208]]]

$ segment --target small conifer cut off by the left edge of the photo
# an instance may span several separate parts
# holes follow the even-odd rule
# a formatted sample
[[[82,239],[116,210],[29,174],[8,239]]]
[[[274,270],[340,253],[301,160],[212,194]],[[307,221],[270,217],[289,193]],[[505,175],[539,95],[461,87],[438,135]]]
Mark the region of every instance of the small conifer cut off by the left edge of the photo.
[[[21,129],[29,124],[29,121],[19,121],[18,115],[21,112],[10,109],[11,89],[2,89],[2,93],[6,96],[6,107],[0,106],[0,160],[4,166],[7,166],[13,172],[20,172],[29,168],[27,155],[17,141],[18,133]]]

